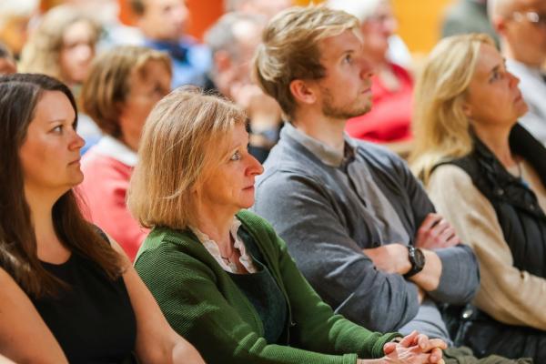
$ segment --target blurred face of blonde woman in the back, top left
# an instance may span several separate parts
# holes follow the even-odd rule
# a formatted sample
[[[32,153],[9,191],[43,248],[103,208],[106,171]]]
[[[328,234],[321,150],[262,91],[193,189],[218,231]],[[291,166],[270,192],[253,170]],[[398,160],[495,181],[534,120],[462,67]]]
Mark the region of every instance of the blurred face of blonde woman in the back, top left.
[[[60,62],[61,73],[69,84],[84,81],[95,56],[95,34],[92,26],[80,20],[66,28]]]

